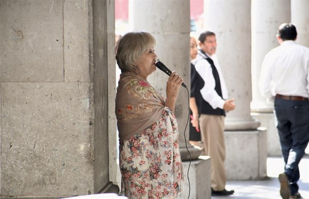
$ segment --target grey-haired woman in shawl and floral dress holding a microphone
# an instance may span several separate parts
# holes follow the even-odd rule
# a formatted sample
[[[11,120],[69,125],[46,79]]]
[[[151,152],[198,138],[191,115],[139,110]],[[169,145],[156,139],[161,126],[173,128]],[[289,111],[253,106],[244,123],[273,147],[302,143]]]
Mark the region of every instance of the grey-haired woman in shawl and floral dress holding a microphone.
[[[115,114],[119,130],[119,166],[122,191],[134,198],[176,198],[182,190],[175,103],[183,79],[172,72],[166,99],[147,77],[156,71],[155,38],[147,32],[129,32],[116,47],[121,69]]]

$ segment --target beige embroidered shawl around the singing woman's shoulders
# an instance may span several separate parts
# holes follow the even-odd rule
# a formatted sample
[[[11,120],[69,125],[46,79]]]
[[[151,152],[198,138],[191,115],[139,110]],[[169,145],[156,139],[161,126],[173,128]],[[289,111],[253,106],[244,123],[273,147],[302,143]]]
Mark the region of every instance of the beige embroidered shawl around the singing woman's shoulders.
[[[133,73],[121,74],[115,108],[120,142],[155,123],[164,106],[163,97],[145,79]]]

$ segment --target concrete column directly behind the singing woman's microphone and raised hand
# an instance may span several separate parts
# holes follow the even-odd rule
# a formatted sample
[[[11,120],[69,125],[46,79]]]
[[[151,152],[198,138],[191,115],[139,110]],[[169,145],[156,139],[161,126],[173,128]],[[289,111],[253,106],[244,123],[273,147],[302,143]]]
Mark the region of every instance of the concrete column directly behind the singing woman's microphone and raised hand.
[[[147,31],[155,36],[158,58],[185,79],[190,89],[190,2],[189,1],[130,1],[129,24],[132,31]],[[159,69],[148,77],[150,84],[166,97],[168,76]],[[197,159],[200,150],[189,144],[189,94],[181,88],[175,107],[179,126],[181,158],[190,160],[188,147],[193,159]],[[187,127],[187,128],[186,128]],[[186,134],[186,140],[185,135]]]

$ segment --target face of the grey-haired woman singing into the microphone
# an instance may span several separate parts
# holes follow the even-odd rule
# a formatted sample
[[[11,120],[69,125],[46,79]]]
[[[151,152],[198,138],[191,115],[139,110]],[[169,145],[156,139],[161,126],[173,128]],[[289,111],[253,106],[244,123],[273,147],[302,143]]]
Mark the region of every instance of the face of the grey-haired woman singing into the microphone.
[[[137,67],[140,69],[140,76],[147,78],[152,72],[156,71],[157,54],[153,47],[149,48],[139,59]]]

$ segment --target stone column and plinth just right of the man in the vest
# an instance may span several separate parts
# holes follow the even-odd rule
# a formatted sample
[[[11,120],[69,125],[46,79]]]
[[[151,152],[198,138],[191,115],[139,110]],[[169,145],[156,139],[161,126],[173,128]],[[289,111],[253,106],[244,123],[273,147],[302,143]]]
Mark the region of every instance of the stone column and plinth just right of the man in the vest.
[[[263,148],[266,146],[257,145],[256,142],[266,143],[266,138],[261,130],[257,130],[260,122],[250,115],[252,100],[251,2],[246,0],[205,1],[204,13],[205,30],[213,31],[216,34],[218,44],[216,53],[229,98],[235,98],[236,103],[236,109],[228,112],[225,118],[225,143],[232,145],[230,148],[226,147],[227,154],[233,153],[234,159],[246,160],[252,156],[256,157],[258,164],[250,166],[251,169],[259,172],[251,177],[261,178],[266,176],[267,154],[263,152]],[[253,136],[257,139],[250,139]],[[246,137],[247,140],[240,140],[242,137]],[[249,148],[236,150],[245,144],[248,144]],[[248,153],[248,150],[252,153]],[[246,179],[243,172],[249,165],[244,166],[244,164],[228,158],[226,158],[225,165],[228,179]]]

